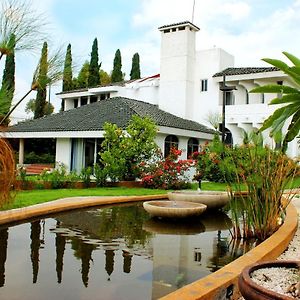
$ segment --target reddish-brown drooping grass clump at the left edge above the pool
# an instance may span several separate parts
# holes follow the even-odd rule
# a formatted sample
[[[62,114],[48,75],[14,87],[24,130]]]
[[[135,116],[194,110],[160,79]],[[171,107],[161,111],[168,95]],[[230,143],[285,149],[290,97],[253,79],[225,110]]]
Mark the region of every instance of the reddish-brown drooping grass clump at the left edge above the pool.
[[[0,208],[10,203],[16,178],[13,150],[4,138],[0,138]]]

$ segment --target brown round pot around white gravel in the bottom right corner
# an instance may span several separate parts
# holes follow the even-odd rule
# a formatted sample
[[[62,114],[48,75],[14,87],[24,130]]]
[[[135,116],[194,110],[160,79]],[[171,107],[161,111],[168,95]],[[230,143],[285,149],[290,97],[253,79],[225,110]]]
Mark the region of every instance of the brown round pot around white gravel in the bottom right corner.
[[[293,300],[293,297],[278,294],[274,291],[263,288],[256,284],[250,277],[251,273],[258,269],[265,268],[300,268],[300,261],[276,260],[261,262],[246,267],[239,276],[239,290],[246,300]]]

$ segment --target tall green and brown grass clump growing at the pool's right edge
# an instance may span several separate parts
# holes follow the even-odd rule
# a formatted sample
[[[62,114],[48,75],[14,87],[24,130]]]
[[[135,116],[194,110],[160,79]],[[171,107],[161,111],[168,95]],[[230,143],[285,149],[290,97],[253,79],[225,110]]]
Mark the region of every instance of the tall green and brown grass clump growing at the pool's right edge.
[[[223,166],[232,198],[233,237],[265,240],[284,221],[294,196],[286,187],[299,176],[298,162],[267,146],[246,144],[227,149]]]

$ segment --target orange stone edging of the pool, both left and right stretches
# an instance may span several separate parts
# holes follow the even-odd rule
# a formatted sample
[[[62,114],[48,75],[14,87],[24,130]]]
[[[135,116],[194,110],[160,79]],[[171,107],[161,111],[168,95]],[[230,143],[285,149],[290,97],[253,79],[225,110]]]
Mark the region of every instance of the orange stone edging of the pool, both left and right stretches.
[[[71,197],[0,212],[0,225],[67,210],[106,204],[167,199],[167,195]],[[298,227],[296,208],[290,204],[284,224],[267,240],[220,270],[174,291],[161,300],[237,299],[238,276],[244,267],[277,258],[288,246]]]

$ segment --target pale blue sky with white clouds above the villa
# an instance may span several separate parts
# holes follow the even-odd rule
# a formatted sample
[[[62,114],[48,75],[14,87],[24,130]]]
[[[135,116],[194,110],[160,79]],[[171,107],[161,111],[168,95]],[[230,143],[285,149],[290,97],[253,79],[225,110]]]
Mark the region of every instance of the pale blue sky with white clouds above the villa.
[[[1,1],[1,0],[0,0]],[[22,0],[27,1],[27,0]],[[31,0],[32,11],[43,13],[48,23],[49,51],[72,45],[73,74],[90,60],[98,39],[101,68],[110,73],[117,49],[128,78],[134,53],[140,55],[142,76],[159,73],[158,27],[192,21],[200,28],[196,49],[222,48],[234,55],[236,67],[266,66],[264,57],[283,59],[282,51],[300,57],[300,0]],[[194,11],[194,14],[193,14]],[[28,91],[40,57],[16,53],[17,102]],[[0,70],[3,70],[3,60]],[[61,82],[51,88],[51,102],[58,111]],[[30,116],[26,101],[13,114],[14,122]]]

